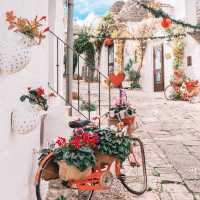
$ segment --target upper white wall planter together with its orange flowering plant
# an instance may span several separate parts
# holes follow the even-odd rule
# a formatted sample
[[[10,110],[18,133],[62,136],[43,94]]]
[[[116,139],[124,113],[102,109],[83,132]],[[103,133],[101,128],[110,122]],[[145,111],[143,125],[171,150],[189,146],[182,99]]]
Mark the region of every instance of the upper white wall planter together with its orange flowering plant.
[[[15,46],[5,45],[0,51],[0,73],[13,74],[24,69],[31,60],[31,47],[39,45],[45,38],[44,33],[49,28],[40,30],[42,21],[46,17],[37,17],[34,20],[28,20],[14,15],[13,11],[6,13],[6,21],[9,24],[8,29],[16,32],[20,40]]]

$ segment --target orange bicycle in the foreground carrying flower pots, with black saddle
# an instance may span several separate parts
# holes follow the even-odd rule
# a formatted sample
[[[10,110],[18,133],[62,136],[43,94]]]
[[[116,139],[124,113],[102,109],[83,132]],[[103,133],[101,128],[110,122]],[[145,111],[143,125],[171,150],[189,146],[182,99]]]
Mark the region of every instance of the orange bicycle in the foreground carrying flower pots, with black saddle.
[[[87,129],[96,126],[89,120],[76,120],[69,123],[73,129]],[[108,190],[113,182],[114,176],[111,173],[111,166],[115,166],[116,178],[120,180],[123,186],[132,194],[141,195],[147,189],[147,172],[145,152],[142,141],[139,138],[131,138],[130,154],[121,164],[117,159],[112,163],[105,163],[100,169],[93,168],[92,173],[83,180],[69,180],[63,182],[63,187],[77,189],[78,200],[91,200],[95,191]],[[35,188],[37,200],[45,200],[48,191],[49,180],[44,180],[45,170],[54,160],[53,152],[49,152],[39,163],[39,167],[35,176]],[[58,166],[55,164],[58,170]],[[55,176],[54,179],[58,179]]]

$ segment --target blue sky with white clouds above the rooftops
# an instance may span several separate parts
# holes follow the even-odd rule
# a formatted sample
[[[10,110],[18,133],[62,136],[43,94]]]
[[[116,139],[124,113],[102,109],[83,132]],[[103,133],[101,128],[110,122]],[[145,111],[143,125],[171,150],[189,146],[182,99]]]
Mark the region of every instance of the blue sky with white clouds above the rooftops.
[[[109,8],[117,0],[74,0],[75,19],[78,23],[92,23],[99,16],[107,13]],[[161,2],[175,5],[177,1],[182,0],[160,0]]]

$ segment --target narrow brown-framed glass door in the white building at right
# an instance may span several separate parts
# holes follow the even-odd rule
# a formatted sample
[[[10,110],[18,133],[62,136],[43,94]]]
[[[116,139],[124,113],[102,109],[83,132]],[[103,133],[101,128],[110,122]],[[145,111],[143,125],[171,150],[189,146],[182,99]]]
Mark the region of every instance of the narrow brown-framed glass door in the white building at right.
[[[164,52],[163,44],[153,50],[154,91],[164,91]]]

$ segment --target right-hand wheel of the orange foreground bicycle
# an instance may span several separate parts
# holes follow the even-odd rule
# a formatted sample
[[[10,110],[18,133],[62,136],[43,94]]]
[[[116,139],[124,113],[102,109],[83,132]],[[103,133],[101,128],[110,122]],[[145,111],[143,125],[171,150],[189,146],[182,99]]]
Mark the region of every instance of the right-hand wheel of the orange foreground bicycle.
[[[132,139],[131,153],[122,164],[119,180],[132,194],[141,195],[147,190],[144,146],[138,138]]]

